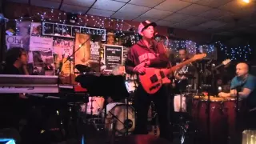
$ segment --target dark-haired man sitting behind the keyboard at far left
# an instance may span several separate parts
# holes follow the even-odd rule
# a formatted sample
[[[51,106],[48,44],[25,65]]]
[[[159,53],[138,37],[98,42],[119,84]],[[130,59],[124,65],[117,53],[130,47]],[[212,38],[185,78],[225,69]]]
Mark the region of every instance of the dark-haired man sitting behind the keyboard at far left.
[[[28,55],[26,51],[20,47],[14,47],[6,53],[6,65],[2,70],[2,74],[28,74],[26,63]],[[0,129],[14,128],[18,130],[19,98],[26,98],[24,94],[1,94],[0,96]]]

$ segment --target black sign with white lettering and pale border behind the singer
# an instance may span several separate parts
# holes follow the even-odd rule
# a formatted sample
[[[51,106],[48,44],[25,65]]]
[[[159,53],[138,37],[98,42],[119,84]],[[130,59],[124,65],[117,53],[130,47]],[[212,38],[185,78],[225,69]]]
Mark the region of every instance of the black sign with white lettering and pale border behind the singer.
[[[112,71],[115,66],[122,65],[123,46],[105,45],[104,59],[106,71]]]

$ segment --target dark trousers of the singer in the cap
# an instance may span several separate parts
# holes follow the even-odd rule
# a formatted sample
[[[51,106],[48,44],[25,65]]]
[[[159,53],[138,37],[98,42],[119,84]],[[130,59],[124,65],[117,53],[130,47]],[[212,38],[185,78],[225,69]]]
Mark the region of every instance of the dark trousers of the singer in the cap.
[[[167,86],[162,86],[155,94],[147,94],[142,86],[134,94],[135,110],[137,110],[135,134],[148,134],[147,131],[147,114],[150,107],[151,100],[154,102],[155,109],[158,113],[158,122],[160,128],[161,138],[171,138],[170,122],[169,122],[169,99]]]

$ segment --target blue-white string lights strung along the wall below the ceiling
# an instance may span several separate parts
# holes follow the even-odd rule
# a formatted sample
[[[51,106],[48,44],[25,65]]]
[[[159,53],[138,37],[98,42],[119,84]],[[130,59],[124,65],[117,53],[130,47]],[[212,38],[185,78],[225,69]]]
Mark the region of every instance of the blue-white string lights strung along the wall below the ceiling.
[[[29,17],[20,17],[18,19],[13,19],[9,21],[15,21],[17,24],[20,22],[26,20],[30,22],[34,21],[41,21],[41,22],[58,22],[62,24],[66,24],[66,16],[67,14],[65,12],[59,12],[56,13],[54,10],[50,10],[49,12],[42,12],[37,13]],[[138,42],[139,35],[137,33],[137,30],[135,29],[135,26],[130,25],[129,23],[125,22],[124,20],[120,19],[112,19],[112,18],[102,18],[98,16],[93,15],[87,15],[87,14],[78,14],[77,18],[74,18],[76,20],[75,25],[77,26],[94,26],[101,29],[110,29],[115,30],[116,37],[126,37],[125,31],[130,31],[133,34],[130,34],[130,41],[132,44],[135,42]],[[30,25],[29,25],[30,27]],[[68,27],[63,26],[63,29],[65,31],[70,31]],[[18,28],[16,27],[16,32],[18,33]],[[73,31],[73,30],[72,30]],[[172,42],[168,42],[166,45],[170,47],[170,49],[178,50],[180,48],[188,50],[189,54],[196,54],[200,49],[203,47],[204,52],[207,54],[217,54],[215,48],[223,51],[226,55],[226,58],[230,58],[232,60],[240,60],[243,59],[245,61],[248,60],[250,57],[250,54],[252,54],[252,50],[250,49],[250,45],[246,46],[238,46],[238,47],[229,47],[224,46],[222,42],[214,42],[214,44],[211,45],[202,45],[198,46],[196,42],[192,42],[190,40],[174,40]]]

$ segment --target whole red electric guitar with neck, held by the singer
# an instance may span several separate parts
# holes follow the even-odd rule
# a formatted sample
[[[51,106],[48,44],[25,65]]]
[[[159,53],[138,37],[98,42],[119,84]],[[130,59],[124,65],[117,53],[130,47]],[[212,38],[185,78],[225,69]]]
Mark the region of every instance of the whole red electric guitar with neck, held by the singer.
[[[190,58],[182,63],[179,63],[176,66],[173,66],[169,69],[157,69],[157,68],[146,68],[146,74],[139,75],[139,80],[142,84],[142,87],[148,94],[156,93],[162,86],[162,84],[170,83],[170,79],[166,76],[175,70],[186,66],[190,62],[194,62],[198,59],[205,58],[206,54],[195,54],[193,58]]]

